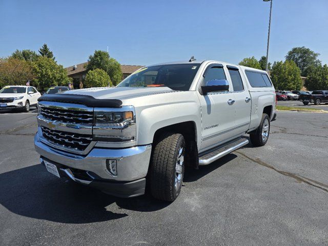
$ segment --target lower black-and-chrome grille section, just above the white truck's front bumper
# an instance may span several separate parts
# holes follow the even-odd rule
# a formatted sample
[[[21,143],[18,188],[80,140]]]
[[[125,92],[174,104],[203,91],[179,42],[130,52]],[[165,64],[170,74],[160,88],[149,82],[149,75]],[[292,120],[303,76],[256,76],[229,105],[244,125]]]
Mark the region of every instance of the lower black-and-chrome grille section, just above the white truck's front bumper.
[[[42,135],[51,144],[68,149],[84,151],[92,141],[92,135],[51,130],[43,126],[41,126],[41,129]]]

